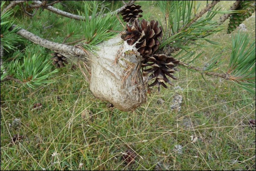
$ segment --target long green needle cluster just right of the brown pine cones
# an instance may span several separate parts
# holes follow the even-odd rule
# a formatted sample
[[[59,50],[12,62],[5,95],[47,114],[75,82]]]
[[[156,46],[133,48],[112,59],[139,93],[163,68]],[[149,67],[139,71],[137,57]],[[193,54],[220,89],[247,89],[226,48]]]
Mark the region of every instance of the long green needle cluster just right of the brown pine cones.
[[[195,51],[199,46],[221,47],[219,42],[214,42],[206,38],[224,29],[223,26],[216,26],[218,20],[212,20],[216,12],[208,11],[206,15],[190,24],[195,19],[195,14],[200,4],[196,5],[192,1],[158,1],[158,6],[166,20],[166,27],[163,27],[161,24],[165,28],[165,39],[159,48],[170,45],[188,51]],[[220,8],[216,8],[214,11],[219,10]],[[198,41],[207,41],[211,45],[198,43]]]

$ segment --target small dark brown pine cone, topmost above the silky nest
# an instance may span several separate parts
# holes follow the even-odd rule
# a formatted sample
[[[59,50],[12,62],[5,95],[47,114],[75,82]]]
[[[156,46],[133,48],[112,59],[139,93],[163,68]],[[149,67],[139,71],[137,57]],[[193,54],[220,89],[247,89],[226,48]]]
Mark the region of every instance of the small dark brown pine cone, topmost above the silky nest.
[[[142,17],[141,12],[143,12],[140,9],[140,5],[127,5],[122,11],[121,11],[121,15],[123,16],[123,20],[124,22],[132,22],[133,19],[136,19],[138,17]]]

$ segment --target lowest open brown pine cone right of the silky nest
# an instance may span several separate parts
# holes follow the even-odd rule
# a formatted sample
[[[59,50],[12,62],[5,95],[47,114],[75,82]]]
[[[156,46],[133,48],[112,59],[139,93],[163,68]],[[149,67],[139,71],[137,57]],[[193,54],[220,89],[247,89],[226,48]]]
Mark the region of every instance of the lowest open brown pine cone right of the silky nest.
[[[168,57],[164,54],[160,55],[151,55],[151,56],[145,56],[145,62],[152,62],[152,63],[145,63],[141,64],[142,67],[144,66],[151,66],[151,68],[146,69],[143,71],[142,74],[144,76],[148,75],[149,73],[153,72],[149,77],[148,80],[153,79],[156,77],[155,82],[150,84],[148,87],[152,87],[154,85],[158,88],[158,93],[160,93],[160,85],[162,85],[164,88],[168,88],[164,82],[168,82],[170,85],[173,85],[171,81],[165,76],[165,74],[169,77],[171,77],[174,80],[177,80],[175,76],[172,75],[172,73],[175,73],[175,71],[179,71],[175,66],[180,62],[180,60],[174,59],[173,57]]]

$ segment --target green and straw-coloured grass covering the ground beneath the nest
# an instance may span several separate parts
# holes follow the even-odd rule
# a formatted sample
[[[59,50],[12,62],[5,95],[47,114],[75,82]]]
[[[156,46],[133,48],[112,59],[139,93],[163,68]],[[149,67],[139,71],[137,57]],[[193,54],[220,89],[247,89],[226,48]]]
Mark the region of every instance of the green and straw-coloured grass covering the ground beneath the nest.
[[[255,37],[255,13],[253,17],[244,24]],[[212,39],[230,47],[230,36],[224,30]],[[218,51],[202,50],[198,63]],[[255,119],[255,95],[206,77],[212,90],[200,73],[182,70],[173,81],[181,89],[157,94],[154,88],[144,105],[121,112],[93,97],[79,68],[72,70],[72,65],[60,68],[54,84],[35,90],[15,82],[2,84],[1,170],[255,170],[255,128],[248,124]],[[171,109],[175,93],[183,97],[180,111]],[[34,109],[35,103],[43,107]],[[92,116],[82,119],[85,110]],[[20,124],[9,127],[15,118]],[[14,134],[24,138],[12,144]],[[191,136],[197,141],[192,143]],[[134,164],[122,160],[126,149],[136,152]]]

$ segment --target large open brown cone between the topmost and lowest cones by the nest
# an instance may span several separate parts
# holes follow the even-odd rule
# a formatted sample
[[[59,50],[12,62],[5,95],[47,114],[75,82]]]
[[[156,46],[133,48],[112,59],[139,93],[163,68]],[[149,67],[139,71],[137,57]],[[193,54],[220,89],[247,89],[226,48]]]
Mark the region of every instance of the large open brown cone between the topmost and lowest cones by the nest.
[[[127,40],[129,45],[133,45],[140,38],[140,41],[135,45],[142,57],[151,55],[158,47],[163,37],[162,27],[158,27],[158,21],[151,20],[150,23],[142,19],[139,25],[138,19],[135,19],[131,26],[127,24],[127,29],[124,41]]]

